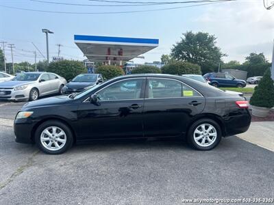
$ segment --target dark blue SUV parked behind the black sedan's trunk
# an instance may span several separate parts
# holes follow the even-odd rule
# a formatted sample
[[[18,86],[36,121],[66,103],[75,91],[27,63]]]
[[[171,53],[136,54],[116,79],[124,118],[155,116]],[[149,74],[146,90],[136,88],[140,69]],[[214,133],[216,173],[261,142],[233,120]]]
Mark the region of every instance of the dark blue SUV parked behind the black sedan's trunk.
[[[247,85],[244,80],[236,79],[231,74],[223,72],[210,72],[203,77],[214,87],[245,87]]]

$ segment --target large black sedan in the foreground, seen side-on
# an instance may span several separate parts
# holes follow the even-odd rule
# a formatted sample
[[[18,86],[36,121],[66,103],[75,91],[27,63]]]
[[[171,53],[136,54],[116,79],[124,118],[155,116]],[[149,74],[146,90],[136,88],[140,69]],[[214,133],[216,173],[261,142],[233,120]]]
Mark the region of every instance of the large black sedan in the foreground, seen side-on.
[[[60,154],[95,139],[186,137],[210,150],[221,137],[247,131],[245,98],[168,74],[116,77],[69,96],[29,102],[14,121],[15,140]]]

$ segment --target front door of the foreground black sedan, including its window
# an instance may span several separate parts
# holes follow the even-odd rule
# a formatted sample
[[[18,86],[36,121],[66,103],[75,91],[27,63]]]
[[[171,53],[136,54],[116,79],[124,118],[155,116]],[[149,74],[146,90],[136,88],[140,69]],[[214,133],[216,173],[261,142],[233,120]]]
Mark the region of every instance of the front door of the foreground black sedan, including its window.
[[[77,111],[79,139],[143,136],[145,78],[116,81],[96,94],[97,103],[86,100]]]

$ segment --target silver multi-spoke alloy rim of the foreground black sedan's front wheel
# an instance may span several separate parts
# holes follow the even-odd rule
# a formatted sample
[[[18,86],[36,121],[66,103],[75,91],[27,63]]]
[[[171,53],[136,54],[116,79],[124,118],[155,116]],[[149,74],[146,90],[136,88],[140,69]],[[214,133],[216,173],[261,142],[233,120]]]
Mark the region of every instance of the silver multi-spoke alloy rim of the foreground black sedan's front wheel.
[[[66,133],[58,126],[49,126],[42,131],[40,141],[47,150],[57,151],[66,144]]]

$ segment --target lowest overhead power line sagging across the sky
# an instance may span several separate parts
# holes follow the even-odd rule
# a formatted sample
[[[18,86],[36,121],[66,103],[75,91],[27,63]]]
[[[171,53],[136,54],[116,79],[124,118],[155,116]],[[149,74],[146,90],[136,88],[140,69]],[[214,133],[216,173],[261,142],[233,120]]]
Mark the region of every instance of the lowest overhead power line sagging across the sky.
[[[140,12],[177,10],[177,9],[181,9],[181,8],[192,8],[192,7],[197,7],[197,6],[201,6],[201,5],[210,5],[210,4],[214,4],[214,3],[224,3],[227,1],[236,1],[236,0],[216,0],[216,1],[212,1],[211,3],[201,3],[201,4],[195,4],[195,5],[173,7],[173,8],[162,8],[162,9],[154,9],[154,10],[135,10],[135,11],[124,11],[124,12],[59,12],[59,11],[50,11],[50,10],[33,10],[33,9],[27,9],[27,8],[18,8],[18,7],[8,6],[8,5],[0,5],[0,7],[10,8],[10,9],[14,9],[14,10],[25,10],[25,11],[30,11],[30,12],[44,12],[44,13],[54,13],[54,14],[129,14],[129,13],[140,13]]]

